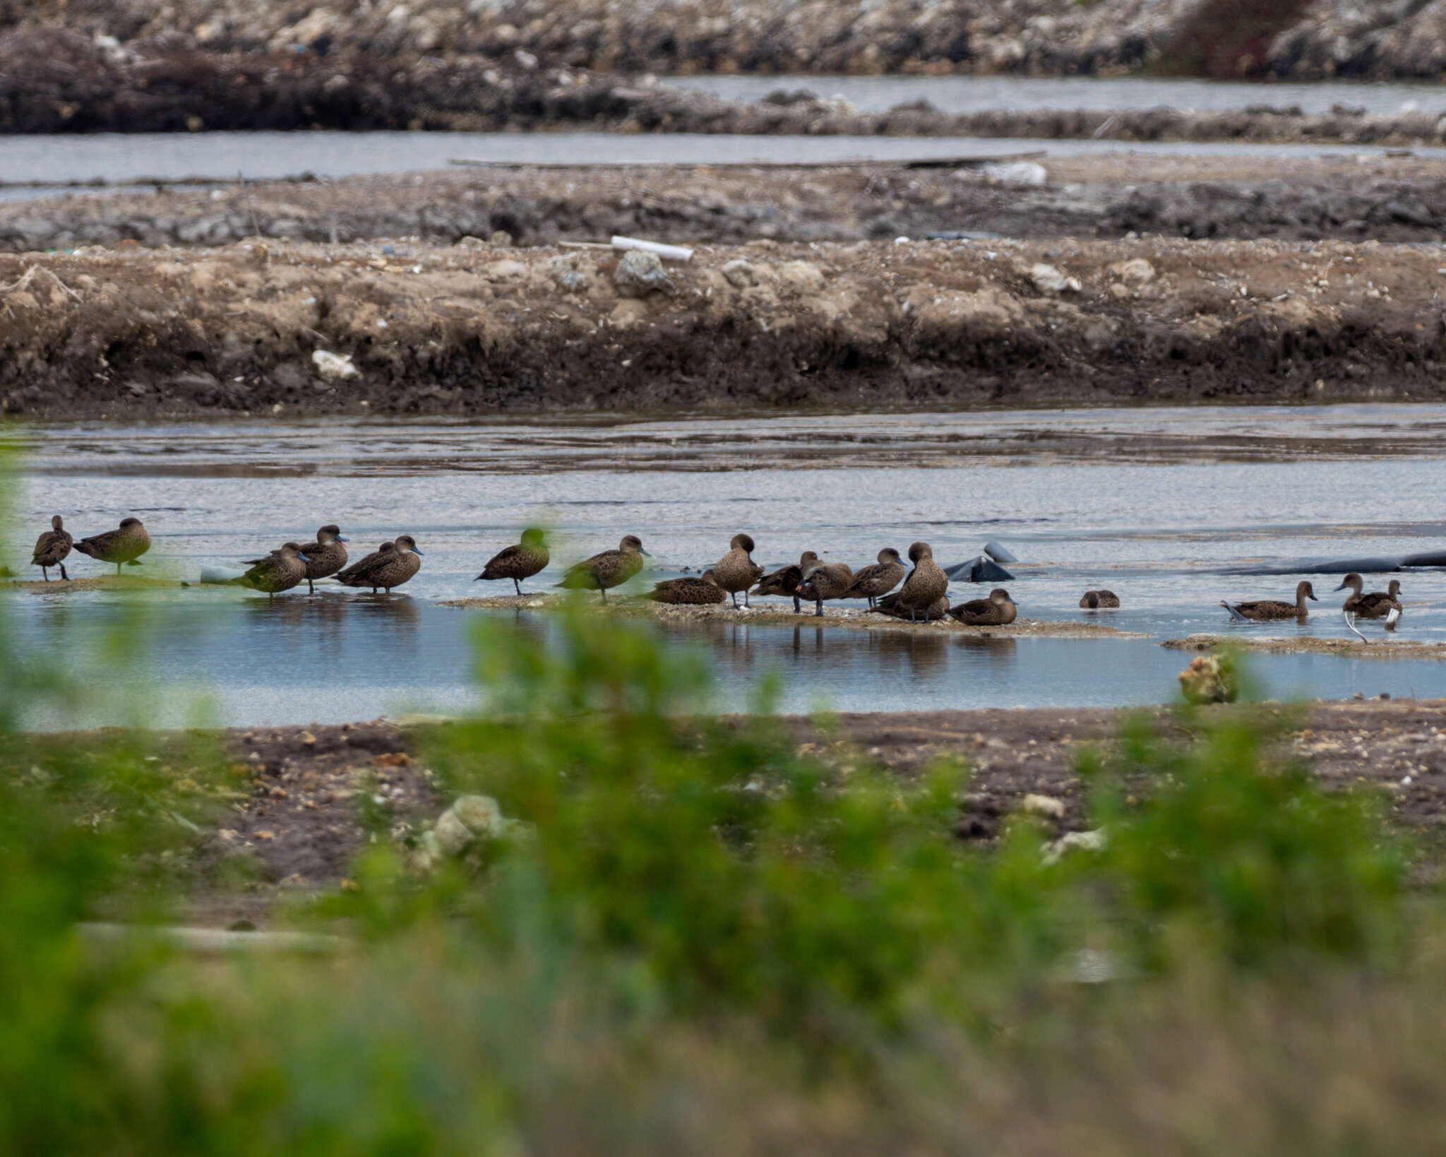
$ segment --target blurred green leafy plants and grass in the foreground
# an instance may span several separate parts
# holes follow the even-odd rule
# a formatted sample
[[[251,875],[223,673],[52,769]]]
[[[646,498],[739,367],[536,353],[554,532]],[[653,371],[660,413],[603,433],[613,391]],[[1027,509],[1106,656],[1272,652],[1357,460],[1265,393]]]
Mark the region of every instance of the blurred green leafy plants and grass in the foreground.
[[[6,638],[3,1153],[1446,1148],[1442,901],[1248,704],[1083,758],[1100,846],[1021,816],[980,850],[963,765],[711,717],[706,664],[638,625],[493,629],[486,712],[418,736],[496,801],[484,837],[363,814],[344,888],[278,915],[335,950],[197,953],[91,933],[174,918],[215,795],[175,736],[20,730],[85,688]],[[184,743],[192,787],[226,777]]]

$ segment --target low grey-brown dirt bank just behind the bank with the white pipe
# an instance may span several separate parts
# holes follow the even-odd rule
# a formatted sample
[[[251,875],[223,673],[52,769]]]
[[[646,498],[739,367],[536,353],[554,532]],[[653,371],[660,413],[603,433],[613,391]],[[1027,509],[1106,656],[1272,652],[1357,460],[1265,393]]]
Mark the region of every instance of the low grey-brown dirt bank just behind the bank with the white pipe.
[[[1035,168],[1037,166],[1037,168]],[[1025,184],[1043,181],[1043,184]],[[615,233],[683,244],[980,233],[1434,243],[1446,162],[1408,158],[1045,158],[1024,169],[464,169],[334,182],[0,202],[0,252],[224,246],[250,237],[521,246]]]

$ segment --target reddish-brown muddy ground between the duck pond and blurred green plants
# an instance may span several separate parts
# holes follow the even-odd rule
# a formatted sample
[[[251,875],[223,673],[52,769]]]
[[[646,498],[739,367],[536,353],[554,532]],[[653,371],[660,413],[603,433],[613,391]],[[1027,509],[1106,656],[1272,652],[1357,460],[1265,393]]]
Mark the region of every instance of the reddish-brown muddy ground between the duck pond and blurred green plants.
[[[1245,709],[1210,707],[1203,717],[1238,710]],[[869,761],[908,777],[940,756],[963,759],[970,780],[954,832],[989,840],[1025,795],[1060,803],[1057,816],[1044,817],[1057,833],[1083,827],[1086,794],[1076,759],[1084,746],[1108,751],[1126,716],[1142,717],[1035,709],[844,714],[823,732],[804,717],[781,723],[794,742],[840,767]],[[1173,713],[1161,709],[1145,717],[1152,717],[1161,738],[1189,742]],[[1433,840],[1446,833],[1446,701],[1319,703],[1285,717],[1283,742],[1323,784],[1378,785],[1403,826]],[[224,811],[200,839],[198,856],[217,868],[240,861],[263,887],[213,898],[211,918],[254,915],[278,889],[335,885],[366,839],[359,819],[363,793],[396,832],[435,820],[447,797],[421,759],[418,739],[415,730],[385,722],[228,732],[234,778],[218,797]],[[175,774],[188,781],[184,764]]]

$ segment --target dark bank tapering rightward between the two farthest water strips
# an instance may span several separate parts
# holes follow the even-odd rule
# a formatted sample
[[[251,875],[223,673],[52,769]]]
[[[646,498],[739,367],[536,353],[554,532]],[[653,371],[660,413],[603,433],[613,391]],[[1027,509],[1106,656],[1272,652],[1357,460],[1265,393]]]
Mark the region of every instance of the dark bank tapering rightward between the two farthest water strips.
[[[1446,117],[1368,116],[1338,104],[1306,116],[1261,104],[1225,113],[996,110],[928,103],[860,113],[808,90],[756,104],[567,67],[531,54],[502,61],[406,51],[202,51],[166,36],[124,46],[65,29],[0,33],[0,133],[296,129],[610,129],[811,136],[979,136],[1440,145]]]

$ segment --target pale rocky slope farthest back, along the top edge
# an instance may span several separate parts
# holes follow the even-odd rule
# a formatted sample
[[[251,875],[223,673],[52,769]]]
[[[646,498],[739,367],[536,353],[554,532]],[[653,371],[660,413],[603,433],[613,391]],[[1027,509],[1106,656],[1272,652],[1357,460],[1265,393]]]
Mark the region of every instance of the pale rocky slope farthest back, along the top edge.
[[[522,52],[654,72],[1437,77],[1446,6],[1387,0],[0,0],[0,27],[213,52]]]

